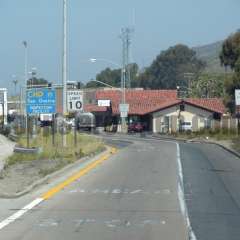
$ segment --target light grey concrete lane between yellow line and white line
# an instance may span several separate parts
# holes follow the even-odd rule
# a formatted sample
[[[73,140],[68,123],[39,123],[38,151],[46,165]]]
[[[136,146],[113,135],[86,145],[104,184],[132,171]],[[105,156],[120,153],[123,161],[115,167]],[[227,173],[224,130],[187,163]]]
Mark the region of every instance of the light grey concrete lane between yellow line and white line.
[[[176,144],[129,141],[110,141],[118,154],[5,227],[0,239],[187,239]]]

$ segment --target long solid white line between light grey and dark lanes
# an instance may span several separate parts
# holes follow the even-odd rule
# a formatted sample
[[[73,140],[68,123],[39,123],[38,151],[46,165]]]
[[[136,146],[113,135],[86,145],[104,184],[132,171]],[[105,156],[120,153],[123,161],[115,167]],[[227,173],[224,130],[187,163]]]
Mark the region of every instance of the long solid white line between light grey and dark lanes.
[[[178,165],[178,198],[179,198],[179,202],[180,202],[180,209],[181,209],[183,216],[186,219],[189,239],[197,240],[197,238],[193,232],[192,226],[191,226],[191,222],[190,222],[190,218],[189,218],[188,210],[187,210],[187,206],[186,206],[186,200],[184,197],[183,171],[182,171],[180,147],[179,147],[178,143],[176,143],[176,145],[177,145],[177,165]]]

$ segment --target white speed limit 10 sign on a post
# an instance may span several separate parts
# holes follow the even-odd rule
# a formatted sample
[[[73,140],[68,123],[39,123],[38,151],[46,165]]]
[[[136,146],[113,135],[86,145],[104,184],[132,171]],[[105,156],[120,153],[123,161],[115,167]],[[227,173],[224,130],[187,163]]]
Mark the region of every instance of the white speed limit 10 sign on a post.
[[[83,91],[72,90],[67,92],[68,111],[83,110]]]

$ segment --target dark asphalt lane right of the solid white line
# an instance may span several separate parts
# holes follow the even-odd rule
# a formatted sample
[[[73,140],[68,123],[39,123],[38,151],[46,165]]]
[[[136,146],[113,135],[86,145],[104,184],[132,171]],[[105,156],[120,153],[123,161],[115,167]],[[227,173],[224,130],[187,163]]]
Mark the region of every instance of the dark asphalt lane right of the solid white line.
[[[221,147],[180,144],[185,199],[198,240],[240,239],[240,159]]]

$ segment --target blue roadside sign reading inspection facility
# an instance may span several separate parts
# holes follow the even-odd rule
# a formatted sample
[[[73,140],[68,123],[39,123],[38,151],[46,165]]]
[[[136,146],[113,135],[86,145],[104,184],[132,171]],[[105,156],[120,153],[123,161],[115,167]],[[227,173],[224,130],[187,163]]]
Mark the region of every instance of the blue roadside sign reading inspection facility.
[[[56,91],[47,88],[28,89],[26,111],[28,114],[55,113]]]

